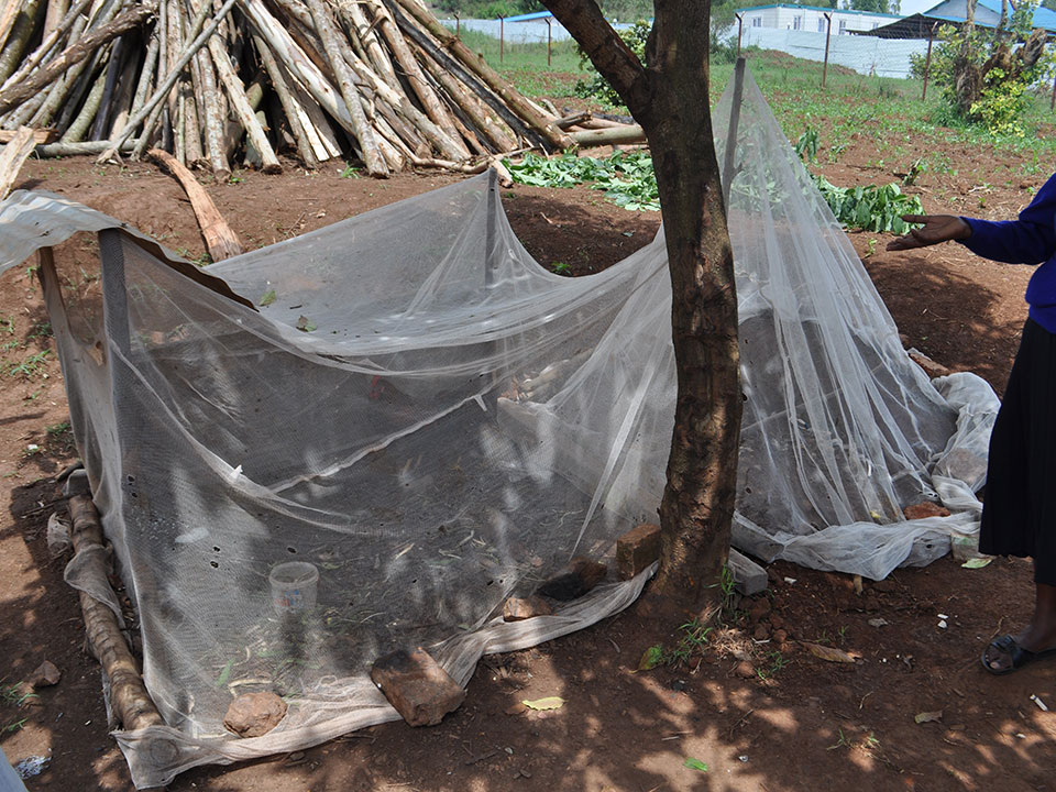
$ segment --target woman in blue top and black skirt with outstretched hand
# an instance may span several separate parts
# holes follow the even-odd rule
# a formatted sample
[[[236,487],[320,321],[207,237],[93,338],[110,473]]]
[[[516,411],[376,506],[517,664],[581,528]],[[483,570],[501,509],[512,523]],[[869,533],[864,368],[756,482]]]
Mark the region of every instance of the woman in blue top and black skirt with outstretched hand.
[[[1056,654],[1056,175],[1019,220],[991,222],[949,215],[908,215],[923,223],[890,251],[957,241],[985,258],[1040,264],[1026,287],[1030,312],[1001,410],[990,436],[979,549],[1034,560],[1030,624],[993,640],[982,653],[1003,674]]]

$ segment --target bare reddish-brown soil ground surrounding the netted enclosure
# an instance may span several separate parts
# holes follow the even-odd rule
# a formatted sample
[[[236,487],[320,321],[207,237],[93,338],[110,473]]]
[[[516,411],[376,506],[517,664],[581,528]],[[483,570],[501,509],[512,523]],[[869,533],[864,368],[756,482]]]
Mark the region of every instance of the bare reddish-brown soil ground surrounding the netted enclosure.
[[[1009,163],[948,153],[959,173],[921,180],[928,210],[1012,217],[1044,180],[987,186],[981,207],[979,184]],[[822,169],[843,185],[892,180],[868,164],[871,156],[853,147]],[[207,188],[242,240],[260,246],[453,178],[373,182],[338,172],[309,176],[290,164],[283,176],[244,173]],[[61,193],[188,258],[202,255],[183,191],[153,166],[32,162],[23,177],[22,187]],[[576,274],[623,258],[658,224],[586,189],[517,187],[504,204],[542,264],[564,262]],[[883,252],[887,235],[851,239],[906,345],[979,373],[1000,393],[1030,272],[955,245],[895,256]],[[77,597],[62,579],[66,558],[52,558],[45,541],[48,515],[62,509],[53,477],[76,455],[46,322],[32,272],[0,277],[3,372],[23,364],[0,376],[0,745],[12,762],[50,757],[28,780],[31,790],[128,790],[99,670],[84,650]],[[194,770],[170,789],[1056,789],[1056,714],[1032,700],[1056,708],[1056,661],[996,678],[978,660],[993,636],[1027,618],[1027,562],[966,570],[947,558],[867,581],[861,593],[846,575],[787,563],[772,565],[771,580],[769,594],[739,603],[730,628],[680,667],[635,673],[647,647],[671,647],[684,635],[681,614],[639,603],[566,638],[485,658],[466,703],[438,727],[374,727],[289,756]],[[843,649],[855,662],[824,661],[804,642]],[[62,682],[18,706],[8,692],[45,659],[62,669]],[[549,713],[518,706],[548,695],[566,703]],[[920,713],[932,715],[916,723]]]

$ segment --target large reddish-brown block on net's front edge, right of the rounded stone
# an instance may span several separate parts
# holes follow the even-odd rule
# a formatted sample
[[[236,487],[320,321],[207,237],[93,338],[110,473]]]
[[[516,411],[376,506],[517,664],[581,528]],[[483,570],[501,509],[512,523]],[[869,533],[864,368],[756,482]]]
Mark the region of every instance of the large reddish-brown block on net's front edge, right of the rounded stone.
[[[380,658],[371,679],[410,726],[436,726],[465,700],[465,691],[421,647]]]

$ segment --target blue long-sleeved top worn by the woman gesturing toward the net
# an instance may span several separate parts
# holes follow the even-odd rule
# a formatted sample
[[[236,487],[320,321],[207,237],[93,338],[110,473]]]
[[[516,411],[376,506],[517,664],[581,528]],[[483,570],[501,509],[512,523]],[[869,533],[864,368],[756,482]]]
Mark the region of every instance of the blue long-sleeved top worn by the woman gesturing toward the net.
[[[1007,264],[1041,264],[1026,286],[1026,302],[1031,319],[1056,333],[1056,174],[1018,220],[963,219],[971,237],[960,242],[972,253]]]

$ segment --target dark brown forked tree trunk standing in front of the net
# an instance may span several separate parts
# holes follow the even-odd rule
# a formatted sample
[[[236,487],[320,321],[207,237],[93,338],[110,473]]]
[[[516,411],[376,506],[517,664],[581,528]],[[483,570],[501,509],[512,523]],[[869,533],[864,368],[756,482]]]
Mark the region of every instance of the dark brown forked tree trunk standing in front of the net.
[[[679,394],[657,587],[711,615],[729,552],[743,396],[734,258],[708,109],[710,0],[654,0],[642,66],[594,0],[543,0],[641,124],[671,273]]]

